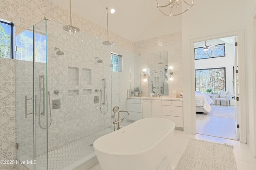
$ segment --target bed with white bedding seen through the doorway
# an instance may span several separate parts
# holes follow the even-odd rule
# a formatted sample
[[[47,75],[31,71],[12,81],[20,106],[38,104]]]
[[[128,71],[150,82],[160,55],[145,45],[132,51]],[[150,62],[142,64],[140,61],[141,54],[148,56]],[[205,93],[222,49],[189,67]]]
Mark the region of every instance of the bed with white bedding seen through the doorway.
[[[206,93],[196,92],[196,112],[203,112],[207,115],[207,112],[210,113],[214,102],[210,96]]]

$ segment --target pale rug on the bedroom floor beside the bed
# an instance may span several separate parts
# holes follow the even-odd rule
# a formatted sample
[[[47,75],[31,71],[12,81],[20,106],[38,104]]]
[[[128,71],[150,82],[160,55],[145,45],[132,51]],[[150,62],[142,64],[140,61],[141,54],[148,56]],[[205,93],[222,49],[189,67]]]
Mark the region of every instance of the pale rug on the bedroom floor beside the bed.
[[[221,118],[229,118],[234,119],[235,118],[235,107],[234,106],[215,106],[211,105],[212,110],[210,113],[207,113],[205,116],[212,116],[212,117],[221,117]],[[196,112],[200,113],[200,112]],[[204,115],[204,113],[201,113],[200,115]]]

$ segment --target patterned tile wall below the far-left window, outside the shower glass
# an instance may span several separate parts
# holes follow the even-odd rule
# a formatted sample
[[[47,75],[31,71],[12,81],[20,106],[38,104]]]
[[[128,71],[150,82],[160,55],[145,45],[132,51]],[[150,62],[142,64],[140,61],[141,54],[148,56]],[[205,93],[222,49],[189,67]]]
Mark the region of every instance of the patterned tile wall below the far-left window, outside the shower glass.
[[[0,160],[14,160],[15,143],[15,61],[0,59]],[[0,164],[0,169],[12,169]]]

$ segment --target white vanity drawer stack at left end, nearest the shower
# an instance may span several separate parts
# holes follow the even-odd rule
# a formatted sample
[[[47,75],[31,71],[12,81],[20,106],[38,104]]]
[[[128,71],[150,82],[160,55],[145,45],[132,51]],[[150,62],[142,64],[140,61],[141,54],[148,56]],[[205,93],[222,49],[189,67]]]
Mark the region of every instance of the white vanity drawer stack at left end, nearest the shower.
[[[128,98],[127,110],[130,112],[129,119],[131,121],[137,121],[141,119],[142,102],[140,98]]]

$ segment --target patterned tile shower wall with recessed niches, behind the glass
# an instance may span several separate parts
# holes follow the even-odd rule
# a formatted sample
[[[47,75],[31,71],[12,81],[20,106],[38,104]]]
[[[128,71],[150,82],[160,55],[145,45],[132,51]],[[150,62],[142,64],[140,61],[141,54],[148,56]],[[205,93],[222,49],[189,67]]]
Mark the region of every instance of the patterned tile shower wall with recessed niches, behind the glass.
[[[48,128],[48,148],[56,149],[103,129],[111,123],[111,47],[80,31],[76,35],[62,29],[63,24],[51,20],[48,28],[48,91],[50,102],[60,100],[60,109],[52,109],[52,125]],[[56,55],[57,47],[64,55]],[[97,63],[99,57],[102,63]],[[108,112],[100,112],[100,91],[104,95],[107,79]],[[59,94],[54,94],[59,90]],[[94,96],[99,102],[94,104]],[[104,97],[104,96],[103,96]],[[102,106],[106,112],[107,106]],[[48,111],[48,114],[50,112]]]

